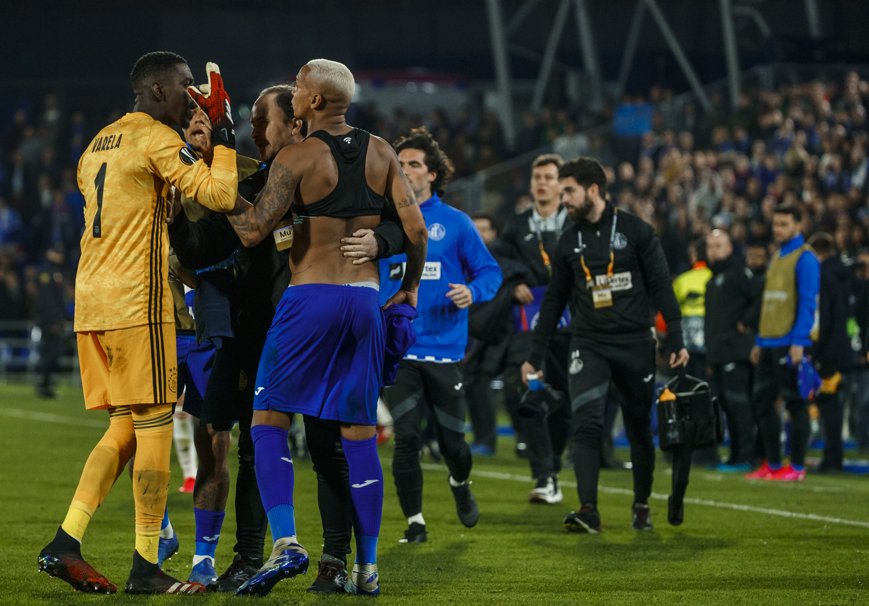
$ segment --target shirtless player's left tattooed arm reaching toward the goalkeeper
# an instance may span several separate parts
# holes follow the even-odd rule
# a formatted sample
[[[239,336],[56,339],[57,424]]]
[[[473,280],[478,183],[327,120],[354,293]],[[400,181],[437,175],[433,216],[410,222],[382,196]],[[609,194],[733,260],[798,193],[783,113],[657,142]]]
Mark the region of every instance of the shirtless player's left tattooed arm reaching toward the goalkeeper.
[[[299,180],[289,169],[290,148],[284,148],[275,157],[269,169],[269,180],[256,196],[253,206],[236,203],[235,212],[229,213],[229,223],[245,246],[261,243],[265,236],[275,228],[275,224],[287,214],[295,196]]]

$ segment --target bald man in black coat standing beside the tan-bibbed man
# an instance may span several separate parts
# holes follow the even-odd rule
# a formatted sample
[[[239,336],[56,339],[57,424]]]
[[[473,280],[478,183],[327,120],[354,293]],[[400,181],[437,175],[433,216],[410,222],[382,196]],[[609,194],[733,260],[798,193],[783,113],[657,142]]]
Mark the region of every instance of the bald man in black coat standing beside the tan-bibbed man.
[[[751,409],[753,367],[748,356],[760,311],[763,276],[755,276],[745,259],[733,254],[726,231],[706,236],[712,278],[706,283],[706,363],[727,414],[730,458],[720,471],[750,471],[754,453]]]

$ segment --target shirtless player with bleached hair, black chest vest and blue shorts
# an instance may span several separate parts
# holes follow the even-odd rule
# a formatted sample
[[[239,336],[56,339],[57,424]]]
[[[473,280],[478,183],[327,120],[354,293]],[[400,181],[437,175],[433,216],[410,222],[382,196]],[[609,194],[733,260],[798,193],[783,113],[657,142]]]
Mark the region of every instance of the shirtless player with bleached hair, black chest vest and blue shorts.
[[[376,553],[383,471],[375,424],[387,332],[377,266],[355,263],[337,247],[380,223],[381,210],[395,207],[407,236],[408,261],[400,290],[384,308],[388,318],[402,316],[403,321],[416,316],[412,308],[428,230],[392,147],[345,121],[354,91],[353,74],[342,63],[315,59],[302,67],[293,110],[307,123],[308,137],[278,152],[255,203],[229,217],[242,243],[255,246],[289,210],[295,216],[293,276],[263,350],[251,427],[257,481],[275,546],[240,595],[264,596],[281,579],[308,568],[308,553],[296,539],[287,445],[295,413],[340,426],[356,514],[356,563],[346,589],[380,593]],[[390,355],[401,353],[400,360],[411,344],[408,336],[407,343],[390,346]]]

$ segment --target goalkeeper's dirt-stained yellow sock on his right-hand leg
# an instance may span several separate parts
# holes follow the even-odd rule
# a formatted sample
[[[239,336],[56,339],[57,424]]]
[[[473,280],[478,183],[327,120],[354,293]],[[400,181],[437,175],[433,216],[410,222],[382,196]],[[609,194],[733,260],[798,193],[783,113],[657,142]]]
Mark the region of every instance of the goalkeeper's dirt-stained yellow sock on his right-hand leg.
[[[138,405],[131,410],[136,430],[136,462],[133,464],[136,551],[150,563],[156,563],[160,525],[169,491],[172,405]]]

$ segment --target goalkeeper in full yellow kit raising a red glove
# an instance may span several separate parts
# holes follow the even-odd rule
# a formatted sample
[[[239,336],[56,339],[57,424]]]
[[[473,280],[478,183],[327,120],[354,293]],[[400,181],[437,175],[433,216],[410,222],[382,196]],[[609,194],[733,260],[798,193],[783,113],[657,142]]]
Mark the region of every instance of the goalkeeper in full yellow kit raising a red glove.
[[[201,593],[157,566],[169,489],[172,409],[177,399],[175,316],[169,290],[171,186],[219,211],[235,206],[235,134],[220,72],[191,89],[214,125],[209,168],[170,126],[186,128],[196,102],[182,57],[153,52],[130,74],[133,113],[99,132],[78,163],[86,199],[76,276],[75,330],[85,406],[109,411],[109,429],[90,453],[69,512],[39,554],[39,569],[74,589],[115,593],[81,553],[94,511],[135,452],[136,549],[127,593]],[[202,92],[206,94],[203,96]]]

